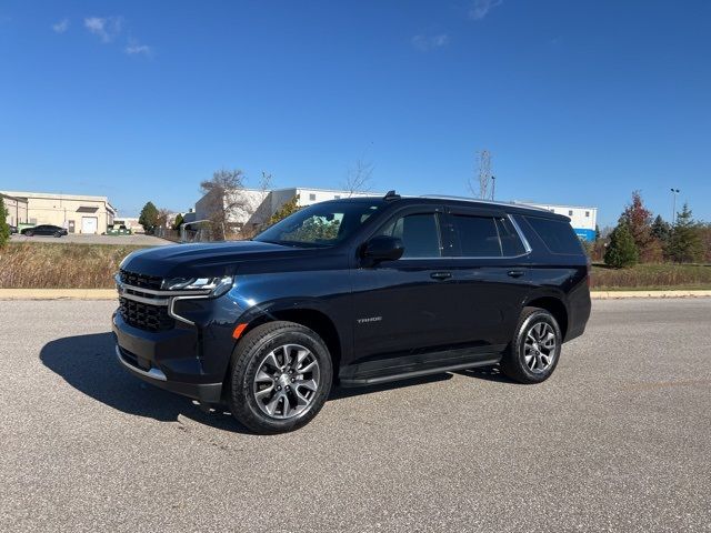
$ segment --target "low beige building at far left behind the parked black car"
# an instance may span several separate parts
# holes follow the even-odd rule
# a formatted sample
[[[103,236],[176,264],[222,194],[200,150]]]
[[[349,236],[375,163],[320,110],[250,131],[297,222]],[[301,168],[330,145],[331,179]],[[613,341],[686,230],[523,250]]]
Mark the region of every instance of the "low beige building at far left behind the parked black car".
[[[11,197],[24,203],[26,217],[20,223],[59,225],[66,228],[69,233],[106,233],[107,227],[113,224],[117,214],[107,197],[21,191],[0,193],[4,198]],[[21,211],[22,208],[19,208],[18,213]]]

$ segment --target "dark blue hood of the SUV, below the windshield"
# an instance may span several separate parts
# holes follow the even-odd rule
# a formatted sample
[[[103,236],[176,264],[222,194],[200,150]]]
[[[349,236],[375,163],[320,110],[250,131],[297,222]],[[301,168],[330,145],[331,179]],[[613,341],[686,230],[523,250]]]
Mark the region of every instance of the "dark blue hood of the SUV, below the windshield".
[[[236,274],[246,261],[279,260],[312,252],[259,241],[172,244],[136,251],[127,255],[121,269],[160,278],[220,276]]]

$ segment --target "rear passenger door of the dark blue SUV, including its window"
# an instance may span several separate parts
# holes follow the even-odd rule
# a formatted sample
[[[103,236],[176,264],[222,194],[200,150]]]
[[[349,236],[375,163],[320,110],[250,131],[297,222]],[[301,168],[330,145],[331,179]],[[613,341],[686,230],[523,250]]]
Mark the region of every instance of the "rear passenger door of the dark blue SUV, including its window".
[[[460,343],[500,350],[508,344],[530,290],[530,247],[500,210],[452,207],[445,230],[458,291]]]

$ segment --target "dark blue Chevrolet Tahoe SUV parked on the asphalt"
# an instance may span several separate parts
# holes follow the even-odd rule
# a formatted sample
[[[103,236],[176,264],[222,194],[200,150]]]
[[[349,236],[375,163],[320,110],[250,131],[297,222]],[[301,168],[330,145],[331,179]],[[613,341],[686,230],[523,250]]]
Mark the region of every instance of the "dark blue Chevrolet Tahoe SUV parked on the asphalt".
[[[590,315],[565,217],[393,192],[310,205],[249,241],[133,252],[117,285],[121,364],[260,433],[308,423],[333,382],[498,363],[539,383]]]

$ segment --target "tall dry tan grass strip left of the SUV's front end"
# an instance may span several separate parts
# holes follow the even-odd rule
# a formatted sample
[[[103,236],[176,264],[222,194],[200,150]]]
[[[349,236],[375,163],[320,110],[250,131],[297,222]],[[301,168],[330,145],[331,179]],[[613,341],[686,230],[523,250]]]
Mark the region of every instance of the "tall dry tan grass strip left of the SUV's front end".
[[[0,249],[0,289],[111,289],[121,260],[141,248],[10,242]]]

